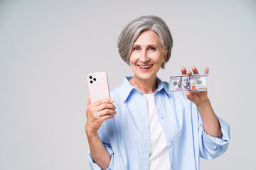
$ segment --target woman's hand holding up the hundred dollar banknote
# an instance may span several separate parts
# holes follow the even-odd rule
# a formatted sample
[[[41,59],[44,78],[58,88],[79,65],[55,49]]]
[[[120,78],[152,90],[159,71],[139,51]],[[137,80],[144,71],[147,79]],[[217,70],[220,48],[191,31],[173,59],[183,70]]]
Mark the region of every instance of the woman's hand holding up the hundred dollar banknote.
[[[196,67],[192,67],[193,74],[198,74],[198,70]],[[209,68],[206,67],[204,70],[204,74],[208,74]],[[181,68],[181,74],[183,75],[191,75],[191,71],[186,71],[185,67]],[[208,101],[207,91],[187,91],[186,96],[188,100],[192,101],[196,104],[196,106],[204,106]]]

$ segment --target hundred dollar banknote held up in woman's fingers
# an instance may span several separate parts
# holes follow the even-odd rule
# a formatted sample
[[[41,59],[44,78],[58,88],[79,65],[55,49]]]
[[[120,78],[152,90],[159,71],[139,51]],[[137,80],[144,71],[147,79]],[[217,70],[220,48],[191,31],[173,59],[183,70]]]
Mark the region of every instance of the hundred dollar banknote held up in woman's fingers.
[[[171,76],[169,91],[207,91],[208,74]]]

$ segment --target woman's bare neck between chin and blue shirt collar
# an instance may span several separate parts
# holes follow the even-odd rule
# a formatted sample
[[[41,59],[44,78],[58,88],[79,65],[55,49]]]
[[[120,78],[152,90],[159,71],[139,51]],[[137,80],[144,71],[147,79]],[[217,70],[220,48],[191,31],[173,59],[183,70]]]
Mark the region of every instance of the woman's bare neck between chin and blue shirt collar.
[[[139,79],[134,75],[134,77],[129,80],[129,83],[143,94],[154,94],[157,89],[156,77],[153,79]]]

